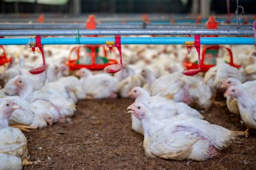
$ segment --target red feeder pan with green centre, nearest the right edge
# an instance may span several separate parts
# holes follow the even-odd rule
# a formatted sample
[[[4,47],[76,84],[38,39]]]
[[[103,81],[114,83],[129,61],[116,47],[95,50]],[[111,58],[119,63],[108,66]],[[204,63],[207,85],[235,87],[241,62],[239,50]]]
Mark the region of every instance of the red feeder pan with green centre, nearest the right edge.
[[[218,57],[218,50],[220,48],[224,48],[228,51],[229,56],[230,56],[230,62],[228,62],[228,65],[235,67],[235,68],[240,68],[241,65],[236,65],[233,62],[233,54],[232,51],[230,50],[230,48],[226,48],[225,46],[207,46],[205,48],[203,48],[203,52],[202,52],[202,60],[201,60],[201,65],[200,65],[200,71],[201,72],[207,72],[211,67],[214,67],[215,65],[205,65],[205,56],[207,55],[212,55],[212,58]],[[212,50],[212,52],[211,52]],[[216,55],[212,54],[213,52],[216,52]],[[190,70],[190,69],[197,69],[198,65],[197,62],[184,62],[184,66]]]

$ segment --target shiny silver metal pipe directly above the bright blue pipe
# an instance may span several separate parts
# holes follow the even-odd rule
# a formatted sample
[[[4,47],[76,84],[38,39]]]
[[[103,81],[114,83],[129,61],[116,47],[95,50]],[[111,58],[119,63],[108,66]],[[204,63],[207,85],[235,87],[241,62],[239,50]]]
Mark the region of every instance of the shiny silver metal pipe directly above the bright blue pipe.
[[[0,30],[0,36],[75,36],[78,30]],[[251,30],[207,30],[207,29],[131,29],[131,30],[79,30],[81,36],[111,35],[219,35],[219,36],[253,36]]]

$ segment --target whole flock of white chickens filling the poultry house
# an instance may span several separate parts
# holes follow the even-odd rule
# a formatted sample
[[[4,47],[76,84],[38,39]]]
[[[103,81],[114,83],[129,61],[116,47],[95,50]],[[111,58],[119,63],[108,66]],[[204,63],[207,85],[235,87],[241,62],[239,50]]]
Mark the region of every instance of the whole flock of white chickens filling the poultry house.
[[[131,129],[144,136],[143,148],[149,157],[204,161],[256,128],[253,46],[230,47],[241,69],[226,64],[224,52],[215,67],[193,77],[182,74],[187,49],[179,45],[124,45],[123,70],[113,75],[88,69],[69,71],[65,62],[71,46],[46,46],[46,71],[31,75],[28,71],[40,63],[40,52],[6,48],[13,60],[1,68],[0,75],[5,82],[0,90],[0,169],[31,165],[21,130],[68,122],[80,99],[135,99],[127,108]],[[193,52],[192,62],[196,60]],[[216,101],[217,95],[226,101]],[[232,131],[204,120],[200,112],[207,112],[212,103],[240,114],[248,129]]]

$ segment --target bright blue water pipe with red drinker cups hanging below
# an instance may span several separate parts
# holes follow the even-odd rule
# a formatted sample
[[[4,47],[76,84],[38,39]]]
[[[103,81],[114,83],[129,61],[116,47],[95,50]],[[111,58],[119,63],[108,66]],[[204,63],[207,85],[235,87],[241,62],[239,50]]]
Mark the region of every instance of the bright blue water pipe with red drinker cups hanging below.
[[[158,37],[158,38],[121,38],[121,44],[185,44],[193,42],[188,37]],[[0,45],[26,45],[35,42],[35,38],[0,38]],[[46,44],[106,44],[115,42],[115,38],[42,38],[41,43]],[[201,38],[201,44],[247,44],[253,45],[254,38]]]

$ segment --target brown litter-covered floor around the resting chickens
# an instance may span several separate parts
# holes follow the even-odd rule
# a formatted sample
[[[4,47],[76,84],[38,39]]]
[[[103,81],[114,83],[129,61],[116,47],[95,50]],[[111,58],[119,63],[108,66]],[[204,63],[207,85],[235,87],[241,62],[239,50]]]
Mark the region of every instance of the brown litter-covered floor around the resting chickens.
[[[84,100],[70,122],[26,132],[30,161],[24,169],[255,169],[256,133],[238,138],[203,162],[148,158],[143,136],[131,130],[131,99]],[[212,105],[205,119],[230,130],[245,130],[240,116]]]

